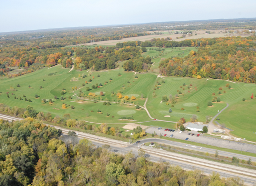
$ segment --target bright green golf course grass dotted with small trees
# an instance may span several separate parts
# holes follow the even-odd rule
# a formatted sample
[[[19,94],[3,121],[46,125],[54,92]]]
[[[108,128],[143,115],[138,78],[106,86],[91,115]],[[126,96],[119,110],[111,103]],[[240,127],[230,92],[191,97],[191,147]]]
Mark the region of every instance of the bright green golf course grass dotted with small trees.
[[[145,55],[148,54],[146,53]],[[166,55],[171,54],[167,53]],[[159,58],[154,60],[159,60]],[[252,133],[256,131],[254,123],[256,117],[253,113],[256,99],[250,99],[251,94],[256,93],[255,84],[232,83],[224,80],[211,79],[206,81],[206,78],[160,78],[157,77],[157,73],[137,73],[138,78],[134,78],[135,74],[133,72],[124,72],[121,67],[105,72],[91,72],[90,75],[86,71],[76,70],[67,73],[69,70],[70,69],[64,69],[61,66],[56,66],[50,69],[44,68],[37,70],[33,73],[11,79],[1,79],[0,103],[4,103],[10,107],[18,106],[22,108],[30,105],[36,109],[37,112],[42,111],[45,114],[50,112],[53,116],[58,115],[62,117],[63,114],[69,113],[71,118],[95,123],[125,124],[131,123],[131,121],[121,121],[118,120],[119,117],[132,117],[136,120],[133,121],[134,123],[144,122],[141,123],[141,125],[153,125],[172,129],[175,128],[175,123],[152,121],[145,110],[135,109],[135,105],[139,104],[143,106],[145,99],[148,98],[146,108],[153,118],[176,122],[181,117],[189,121],[193,115],[196,115],[198,121],[205,123],[206,116],[212,117],[216,115],[218,110],[223,109],[226,103],[228,103],[229,107],[218,116],[220,119],[218,122],[232,129],[232,135],[246,138],[246,140],[256,141],[256,135]],[[53,75],[49,76],[48,74],[50,73],[53,73]],[[78,78],[79,74],[82,75],[82,73],[87,77]],[[121,73],[121,76],[118,76],[118,73]],[[78,80],[70,81],[73,77],[78,78]],[[112,80],[110,81],[109,78]],[[82,86],[82,83],[85,83],[85,81],[88,82],[89,79],[92,81]],[[164,83],[162,83],[162,80],[164,80]],[[105,83],[105,81],[107,83]],[[160,85],[158,85],[157,82]],[[91,89],[91,86],[96,83],[101,83],[103,86],[97,89]],[[184,83],[185,86],[183,86]],[[225,86],[227,83],[231,86],[230,89]],[[16,87],[17,84],[19,84],[20,87]],[[190,84],[191,86],[188,89]],[[29,85],[31,88],[28,88]],[[42,86],[42,88],[39,89],[39,86]],[[159,89],[157,89],[157,86]],[[72,87],[76,87],[77,89],[73,90]],[[91,90],[86,91],[86,87],[89,87]],[[222,90],[219,90],[220,87]],[[15,88],[16,91],[13,91],[12,88]],[[63,88],[66,93],[61,95]],[[154,90],[154,88],[156,90]],[[75,94],[79,95],[79,91],[82,91],[86,95],[91,92],[96,94],[94,99],[99,100],[99,93],[102,91],[104,93],[104,95],[101,96],[102,100],[116,102],[120,99],[118,99],[117,96],[111,97],[111,92],[117,93],[118,90],[122,92],[122,96],[127,95],[129,98],[134,96],[136,98],[135,100],[127,100],[127,103],[134,104],[134,106],[121,106],[116,103],[111,103],[111,105],[107,106],[103,105],[102,102],[93,103],[92,100],[81,100],[77,99],[75,96]],[[181,91],[184,95],[178,94],[177,90]],[[218,94],[219,91],[221,94]],[[7,98],[6,92],[9,92],[9,98]],[[156,97],[152,96],[153,92],[155,92]],[[208,107],[207,102],[211,101],[214,97],[212,93],[215,93],[215,96],[219,97],[221,101],[215,102],[213,106]],[[35,98],[35,94],[38,95],[38,98]],[[165,102],[161,102],[162,96],[166,95],[169,97],[170,94],[172,97],[178,94],[178,102],[173,104],[174,107],[171,107],[172,104],[170,102],[168,102],[169,105],[166,105]],[[25,95],[25,97],[23,97],[23,95]],[[57,96],[57,99],[54,99],[54,96]],[[65,99],[60,100],[60,96],[65,97]],[[69,96],[71,96],[72,99],[68,99]],[[14,99],[14,97],[16,97],[16,99]],[[21,98],[21,100],[19,98]],[[246,101],[242,101],[242,98],[246,98]],[[25,99],[30,99],[31,102],[25,101]],[[41,103],[41,99],[46,99],[46,103]],[[49,99],[52,99],[52,104],[49,104]],[[61,107],[63,103],[66,104],[67,108],[63,109]],[[74,109],[71,109],[71,105]],[[197,112],[197,106],[199,107],[199,112]],[[171,113],[168,112],[169,108],[172,110]],[[181,108],[184,110],[181,110]],[[98,113],[98,109],[101,112]],[[108,116],[106,116],[106,114],[108,114]]]

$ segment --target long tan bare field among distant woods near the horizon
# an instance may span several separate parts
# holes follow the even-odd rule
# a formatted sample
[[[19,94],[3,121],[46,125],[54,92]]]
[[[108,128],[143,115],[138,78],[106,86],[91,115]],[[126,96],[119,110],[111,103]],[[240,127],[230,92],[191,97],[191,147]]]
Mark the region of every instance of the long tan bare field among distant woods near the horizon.
[[[146,41],[146,40],[150,40],[150,39],[153,39],[153,38],[166,38],[166,37],[171,37],[171,39],[175,40],[175,41],[181,41],[181,40],[185,40],[185,39],[198,39],[198,38],[214,38],[214,37],[228,37],[228,36],[247,37],[248,36],[248,35],[245,35],[245,34],[222,33],[222,32],[224,32],[223,30],[207,30],[207,31],[211,31],[211,32],[214,31],[215,33],[205,34],[205,30],[197,30],[197,31],[193,31],[193,34],[190,37],[187,35],[186,37],[183,37],[183,38],[180,38],[180,39],[176,39],[176,37],[181,37],[182,33],[179,33],[179,34],[174,34],[174,33],[169,34],[167,31],[163,31],[162,32],[163,34],[160,34],[160,35],[144,35],[144,36],[138,36],[138,37],[123,38],[123,39],[120,39],[120,40],[98,41],[98,42],[95,42],[94,44],[102,45],[102,46],[103,45],[112,45],[112,46],[114,46],[118,42],[127,42],[127,41],[135,41],[135,40]],[[148,31],[148,32],[153,33],[154,31]],[[195,35],[195,33],[197,35]],[[76,44],[76,45],[72,45],[72,46],[79,46],[79,45],[90,45],[90,43]]]

